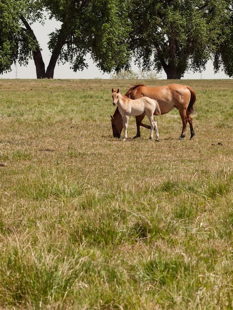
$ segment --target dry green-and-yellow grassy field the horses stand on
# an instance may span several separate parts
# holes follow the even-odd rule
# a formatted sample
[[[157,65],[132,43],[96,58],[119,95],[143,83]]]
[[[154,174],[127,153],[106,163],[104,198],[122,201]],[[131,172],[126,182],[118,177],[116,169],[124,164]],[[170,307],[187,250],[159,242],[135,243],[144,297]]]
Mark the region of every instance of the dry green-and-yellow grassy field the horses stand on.
[[[0,309],[233,308],[233,80],[112,135],[112,87],[167,80],[0,80]]]

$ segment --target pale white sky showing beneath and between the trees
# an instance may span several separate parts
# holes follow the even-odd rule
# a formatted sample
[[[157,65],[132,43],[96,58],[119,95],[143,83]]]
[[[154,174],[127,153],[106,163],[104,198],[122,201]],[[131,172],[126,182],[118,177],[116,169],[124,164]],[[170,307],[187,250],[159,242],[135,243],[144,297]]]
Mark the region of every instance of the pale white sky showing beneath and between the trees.
[[[39,22],[31,25],[34,34],[42,48],[42,57],[45,62],[45,66],[47,68],[49,64],[49,60],[51,57],[51,53],[47,47],[47,43],[49,41],[48,34],[51,33],[56,28],[59,28],[60,23],[56,20],[47,20],[42,26]],[[56,64],[54,78],[55,79],[109,79],[111,78],[110,74],[104,73],[99,70],[96,65],[93,63],[93,60],[89,57],[87,58],[88,68],[83,71],[73,72],[70,69],[70,64]],[[20,66],[19,64],[11,66],[12,71],[4,74],[0,74],[0,78],[4,79],[35,79],[36,78],[36,67],[33,60],[30,60],[26,67]],[[138,72],[139,68],[137,68],[132,63],[132,70],[134,72]],[[167,79],[166,73],[163,71],[158,74],[160,79]],[[229,77],[224,72],[219,72],[217,74],[214,73],[213,63],[209,61],[206,66],[206,70],[202,73],[193,73],[188,72],[184,74],[183,79],[229,79]]]

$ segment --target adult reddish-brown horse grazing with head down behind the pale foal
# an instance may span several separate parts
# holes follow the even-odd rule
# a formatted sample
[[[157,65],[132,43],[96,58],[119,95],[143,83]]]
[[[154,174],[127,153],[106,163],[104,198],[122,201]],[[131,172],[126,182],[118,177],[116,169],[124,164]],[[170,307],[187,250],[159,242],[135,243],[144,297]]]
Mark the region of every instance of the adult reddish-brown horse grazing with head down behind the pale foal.
[[[141,84],[132,86],[127,91],[125,96],[131,99],[138,99],[144,96],[155,99],[159,103],[161,114],[166,114],[176,107],[179,110],[183,123],[182,132],[179,139],[183,139],[185,137],[187,122],[190,125],[190,140],[193,139],[195,132],[193,130],[191,114],[193,112],[193,104],[196,101],[196,94],[191,87],[179,84],[148,87]],[[137,135],[135,138],[140,137],[140,126],[150,129],[150,126],[142,123],[144,116],[145,113],[136,116]],[[111,115],[111,118],[113,136],[119,138],[123,128],[123,123],[118,107],[115,110],[114,115]]]

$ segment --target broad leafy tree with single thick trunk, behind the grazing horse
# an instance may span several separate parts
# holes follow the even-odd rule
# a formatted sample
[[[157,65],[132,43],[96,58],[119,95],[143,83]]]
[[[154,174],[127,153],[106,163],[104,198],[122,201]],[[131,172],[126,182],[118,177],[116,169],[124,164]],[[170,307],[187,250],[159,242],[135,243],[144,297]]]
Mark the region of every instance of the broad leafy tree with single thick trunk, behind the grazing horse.
[[[163,68],[168,79],[201,72],[227,14],[224,0],[132,0],[131,50],[144,69]]]

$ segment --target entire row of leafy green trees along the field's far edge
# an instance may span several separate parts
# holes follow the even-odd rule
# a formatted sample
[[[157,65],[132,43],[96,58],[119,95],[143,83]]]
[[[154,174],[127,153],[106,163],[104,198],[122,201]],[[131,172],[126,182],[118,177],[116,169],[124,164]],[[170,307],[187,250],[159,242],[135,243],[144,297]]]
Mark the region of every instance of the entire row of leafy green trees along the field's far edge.
[[[38,78],[53,78],[57,62],[74,71],[88,53],[104,72],[129,69],[132,55],[143,69],[168,79],[202,71],[215,56],[233,75],[231,0],[0,0],[0,73],[34,59]],[[61,23],[51,32],[46,68],[32,23],[44,12]],[[223,22],[224,21],[224,22]],[[227,22],[227,26],[226,26]]]

